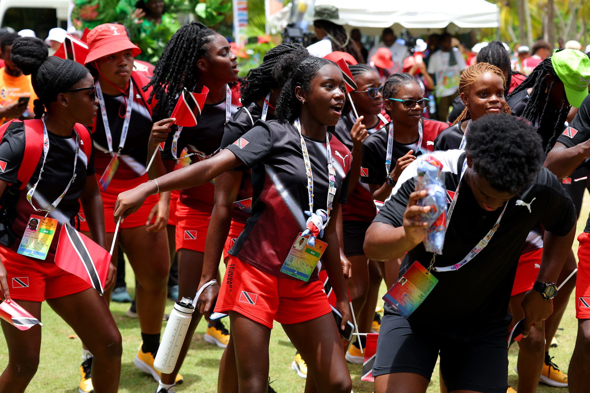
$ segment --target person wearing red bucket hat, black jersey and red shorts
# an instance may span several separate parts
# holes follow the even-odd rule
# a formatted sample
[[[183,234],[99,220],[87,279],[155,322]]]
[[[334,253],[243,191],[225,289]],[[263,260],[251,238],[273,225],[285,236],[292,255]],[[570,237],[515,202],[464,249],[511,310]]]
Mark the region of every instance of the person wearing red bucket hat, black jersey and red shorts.
[[[122,25],[99,25],[89,32],[86,42],[88,55],[85,62],[94,77],[100,107],[91,130],[96,148],[94,165],[104,202],[107,242],[112,242],[117,236],[113,220],[117,195],[148,181],[145,172],[153,121],[152,107],[146,104],[150,91],[144,92],[142,87],[149,80],[133,71],[133,58],[141,50],[129,41]],[[152,196],[142,209],[119,226],[118,242],[137,279],[136,307],[142,344],[134,363],[150,374],[156,371],[141,366],[153,364],[162,329],[170,267],[168,237],[163,231],[168,223],[169,202],[169,193],[162,193],[159,198]],[[80,223],[80,229],[89,230],[86,222]],[[114,247],[113,260],[117,259],[117,249]],[[105,291],[105,295],[109,300],[110,290]],[[90,392],[93,389],[91,354],[84,350],[83,359],[79,391]],[[179,375],[178,379],[182,377]]]

